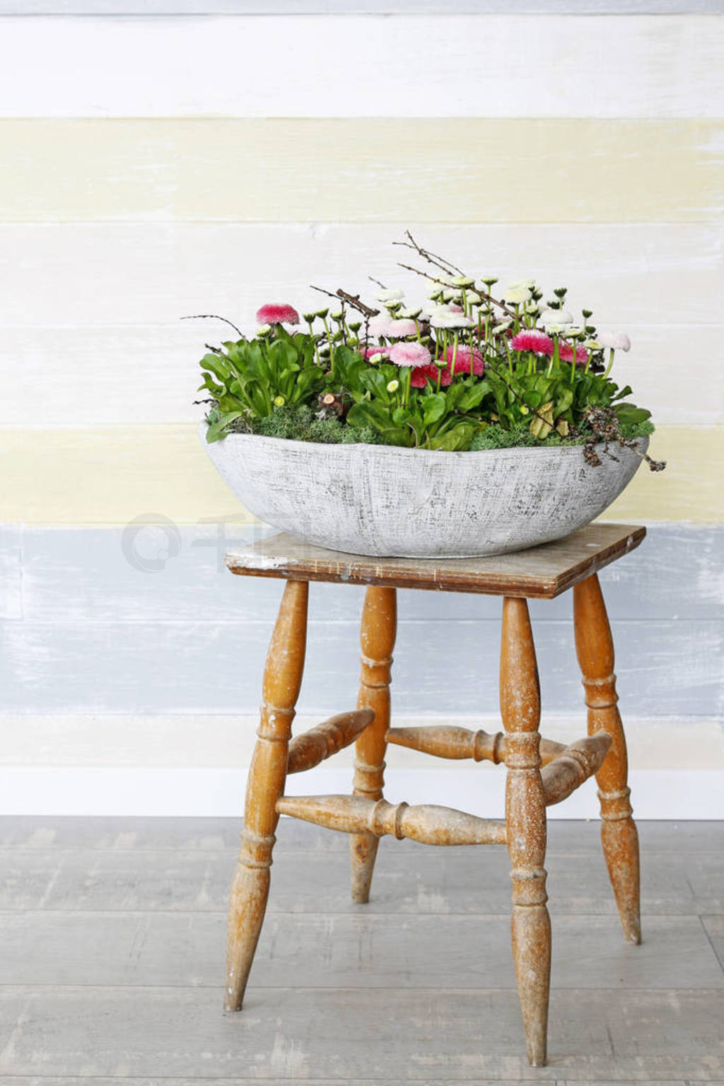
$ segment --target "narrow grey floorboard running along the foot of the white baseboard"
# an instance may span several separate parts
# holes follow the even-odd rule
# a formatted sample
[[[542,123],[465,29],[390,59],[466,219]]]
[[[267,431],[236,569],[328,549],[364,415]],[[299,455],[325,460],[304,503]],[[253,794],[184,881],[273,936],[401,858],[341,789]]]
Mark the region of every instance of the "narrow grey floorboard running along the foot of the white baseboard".
[[[30,817],[0,818],[0,849],[31,850],[102,849],[104,851],[203,853],[230,851],[239,845],[242,820],[236,818],[126,818],[126,817]],[[724,855],[724,820],[720,822],[638,822],[642,855]],[[397,842],[396,848],[420,855],[414,842]],[[344,834],[331,833],[308,822],[282,818],[277,829],[275,856],[285,850],[347,851]],[[596,821],[551,821],[548,824],[548,855],[600,855],[600,823]]]

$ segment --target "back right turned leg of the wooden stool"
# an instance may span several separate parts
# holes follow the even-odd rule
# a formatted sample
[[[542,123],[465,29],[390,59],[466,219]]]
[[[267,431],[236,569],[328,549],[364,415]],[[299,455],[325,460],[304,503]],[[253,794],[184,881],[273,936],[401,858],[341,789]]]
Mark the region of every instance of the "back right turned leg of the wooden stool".
[[[638,833],[626,783],[626,737],[617,707],[613,639],[595,573],[573,589],[573,622],[588,706],[588,734],[606,731],[612,740],[606,761],[596,774],[604,856],[624,934],[630,943],[640,943]]]

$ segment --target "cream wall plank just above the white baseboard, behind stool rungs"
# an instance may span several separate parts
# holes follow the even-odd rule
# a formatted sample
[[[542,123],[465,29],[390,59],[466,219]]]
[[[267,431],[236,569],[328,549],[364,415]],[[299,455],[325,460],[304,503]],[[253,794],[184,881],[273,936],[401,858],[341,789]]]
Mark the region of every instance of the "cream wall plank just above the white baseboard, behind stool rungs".
[[[536,626],[536,632],[539,627]],[[444,677],[440,675],[441,684]],[[261,677],[259,677],[261,684]],[[394,699],[393,699],[394,700]],[[347,698],[354,705],[353,696]],[[339,693],[339,707],[345,707],[345,692]],[[401,711],[397,711],[398,708]],[[624,705],[625,710],[625,705]],[[395,725],[411,728],[425,724],[453,724],[472,731],[500,731],[500,717],[496,712],[457,716],[412,714],[395,700]],[[724,734],[722,721],[703,717],[639,717],[624,711],[626,742],[632,766],[647,771],[699,773],[711,770],[724,773]],[[294,734],[299,735],[319,717],[306,711],[294,718]],[[0,765],[8,768],[54,767],[56,769],[98,768],[130,769],[243,769],[251,763],[258,712],[254,714],[5,714],[0,715],[3,744]],[[559,743],[573,743],[585,733],[582,714],[562,716],[555,706],[547,704],[541,724],[546,738]],[[326,770],[341,771],[345,782],[352,779],[354,747],[340,752],[333,761],[325,763]],[[468,774],[483,783],[483,770],[472,761],[431,760],[417,750],[405,747],[388,752],[390,780],[396,782],[401,771],[427,775],[444,769],[459,771],[461,786],[471,785]],[[486,772],[486,770],[485,770]],[[494,770],[501,773],[501,770]],[[301,782],[297,791],[315,791],[306,774],[295,776]],[[290,787],[292,786],[290,781]],[[323,785],[322,782],[317,782]],[[297,784],[293,784],[297,787]],[[316,787],[316,784],[315,784]],[[395,783],[396,792],[399,786]],[[325,788],[321,786],[321,792]],[[328,790],[329,791],[329,790]],[[334,791],[332,788],[331,791]],[[342,791],[346,790],[346,784]],[[450,793],[445,801],[456,806]],[[407,797],[406,797],[407,798]]]

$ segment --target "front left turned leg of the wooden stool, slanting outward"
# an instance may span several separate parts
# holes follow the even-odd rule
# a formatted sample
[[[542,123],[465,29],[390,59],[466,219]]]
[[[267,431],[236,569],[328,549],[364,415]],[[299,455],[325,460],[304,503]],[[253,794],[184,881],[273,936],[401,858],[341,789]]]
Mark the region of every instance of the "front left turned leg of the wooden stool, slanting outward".
[[[307,629],[306,581],[288,581],[264,669],[262,719],[246,784],[241,853],[231,883],[224,1006],[241,1010],[269,894],[269,868],[284,791]]]

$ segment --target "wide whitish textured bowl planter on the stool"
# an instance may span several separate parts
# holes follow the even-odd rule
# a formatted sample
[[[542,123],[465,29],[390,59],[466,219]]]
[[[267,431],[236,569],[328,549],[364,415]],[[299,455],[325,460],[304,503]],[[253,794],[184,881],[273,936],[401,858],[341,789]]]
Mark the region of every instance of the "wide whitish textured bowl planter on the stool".
[[[647,445],[639,441],[642,452]],[[266,523],[333,551],[410,558],[505,554],[561,539],[601,514],[640,464],[618,445],[617,460],[598,446],[597,468],[580,445],[445,453],[232,433],[206,450]]]

